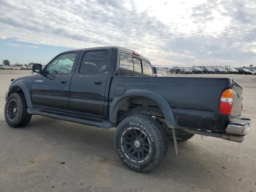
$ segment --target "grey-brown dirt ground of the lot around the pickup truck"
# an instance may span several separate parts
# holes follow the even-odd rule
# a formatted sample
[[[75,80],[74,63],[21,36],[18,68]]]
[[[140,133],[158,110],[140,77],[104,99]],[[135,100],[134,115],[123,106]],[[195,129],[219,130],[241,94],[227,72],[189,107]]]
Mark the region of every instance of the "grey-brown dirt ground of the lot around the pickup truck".
[[[244,88],[242,115],[252,126],[242,143],[194,136],[173,143],[150,173],[129,170],[114,149],[115,129],[103,130],[41,116],[24,128],[4,120],[4,92],[10,79],[28,70],[0,70],[0,192],[256,192],[256,75],[231,77]]]

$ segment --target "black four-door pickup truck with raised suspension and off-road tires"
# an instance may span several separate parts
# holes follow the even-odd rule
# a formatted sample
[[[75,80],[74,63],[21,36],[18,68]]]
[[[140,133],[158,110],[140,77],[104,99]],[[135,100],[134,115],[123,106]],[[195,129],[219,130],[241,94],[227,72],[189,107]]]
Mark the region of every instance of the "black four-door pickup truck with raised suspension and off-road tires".
[[[230,78],[153,77],[150,61],[121,47],[63,52],[36,75],[12,80],[5,119],[26,126],[41,115],[104,129],[116,127],[115,147],[130,169],[148,172],[167,152],[167,138],[194,134],[242,142],[242,88]]]

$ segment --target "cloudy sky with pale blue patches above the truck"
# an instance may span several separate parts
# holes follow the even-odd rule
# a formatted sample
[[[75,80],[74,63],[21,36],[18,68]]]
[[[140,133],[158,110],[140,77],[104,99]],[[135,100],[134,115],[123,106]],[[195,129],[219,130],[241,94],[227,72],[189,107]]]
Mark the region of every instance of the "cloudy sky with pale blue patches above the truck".
[[[256,65],[255,0],[0,0],[0,59],[124,46],[162,66]]]

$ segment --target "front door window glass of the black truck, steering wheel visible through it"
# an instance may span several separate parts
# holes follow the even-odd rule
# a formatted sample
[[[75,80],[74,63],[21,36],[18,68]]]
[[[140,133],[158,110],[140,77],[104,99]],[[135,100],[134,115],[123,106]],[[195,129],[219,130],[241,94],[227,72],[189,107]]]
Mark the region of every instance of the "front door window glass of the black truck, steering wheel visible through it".
[[[66,53],[55,58],[48,64],[46,74],[70,74],[76,58],[76,53]]]

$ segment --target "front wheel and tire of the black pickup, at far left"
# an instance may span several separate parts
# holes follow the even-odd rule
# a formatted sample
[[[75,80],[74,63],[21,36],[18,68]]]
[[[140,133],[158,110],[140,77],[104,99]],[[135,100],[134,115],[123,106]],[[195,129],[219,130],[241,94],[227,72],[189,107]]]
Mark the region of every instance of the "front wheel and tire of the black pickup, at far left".
[[[11,108],[11,104],[12,103],[16,103],[17,107],[16,107],[16,117],[15,118],[11,118],[10,117],[10,108]],[[26,104],[26,100],[25,97],[22,93],[13,93],[11,94],[5,104],[4,107],[4,118],[7,122],[7,124],[11,127],[22,127],[22,126],[26,126],[31,119],[31,114],[28,114],[27,112],[27,104]],[[14,111],[14,110],[13,110]]]

